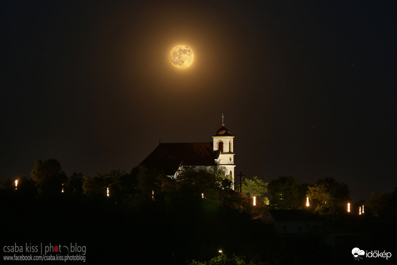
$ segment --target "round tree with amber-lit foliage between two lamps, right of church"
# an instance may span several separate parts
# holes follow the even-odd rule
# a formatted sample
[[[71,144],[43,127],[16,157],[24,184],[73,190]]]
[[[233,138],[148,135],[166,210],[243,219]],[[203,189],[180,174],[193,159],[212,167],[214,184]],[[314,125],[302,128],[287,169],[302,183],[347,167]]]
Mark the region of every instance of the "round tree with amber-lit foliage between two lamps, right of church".
[[[346,183],[336,182],[333,177],[326,177],[308,187],[306,193],[311,201],[311,209],[321,215],[343,212],[350,200],[350,189]]]

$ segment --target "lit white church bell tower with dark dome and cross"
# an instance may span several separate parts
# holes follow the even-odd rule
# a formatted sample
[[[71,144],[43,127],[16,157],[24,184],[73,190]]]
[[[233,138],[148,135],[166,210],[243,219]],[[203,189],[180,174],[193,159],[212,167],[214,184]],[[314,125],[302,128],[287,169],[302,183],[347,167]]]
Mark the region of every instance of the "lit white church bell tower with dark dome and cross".
[[[224,116],[222,114],[222,127],[220,127],[214,136],[212,136],[213,150],[220,150],[218,166],[226,168],[226,174],[229,174],[234,183],[234,136],[226,129],[224,123]]]

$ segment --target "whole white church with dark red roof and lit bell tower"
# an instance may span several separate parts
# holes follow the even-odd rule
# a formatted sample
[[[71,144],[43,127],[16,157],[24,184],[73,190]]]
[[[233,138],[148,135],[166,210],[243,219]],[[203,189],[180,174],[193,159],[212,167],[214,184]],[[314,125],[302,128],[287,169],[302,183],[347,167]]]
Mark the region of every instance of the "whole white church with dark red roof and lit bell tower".
[[[221,127],[212,136],[212,142],[206,143],[159,143],[156,149],[146,157],[143,166],[163,170],[164,173],[176,179],[183,167],[192,166],[197,170],[219,167],[226,169],[226,174],[232,177],[234,183],[234,136],[225,127]]]

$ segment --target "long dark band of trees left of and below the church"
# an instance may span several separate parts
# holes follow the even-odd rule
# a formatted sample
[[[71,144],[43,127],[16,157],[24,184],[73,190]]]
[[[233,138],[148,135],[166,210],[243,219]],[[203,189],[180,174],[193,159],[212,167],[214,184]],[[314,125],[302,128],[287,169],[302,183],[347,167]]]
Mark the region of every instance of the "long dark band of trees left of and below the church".
[[[55,159],[36,161],[29,177],[20,177],[1,183],[2,192],[29,194],[37,199],[70,198],[103,202],[118,207],[141,207],[156,202],[163,206],[180,204],[205,198],[206,202],[247,210],[248,197],[234,192],[232,179],[219,168],[214,171],[195,171],[186,167],[178,181],[165,176],[162,171],[137,166],[130,172],[111,171],[93,177],[73,173],[67,177]]]

